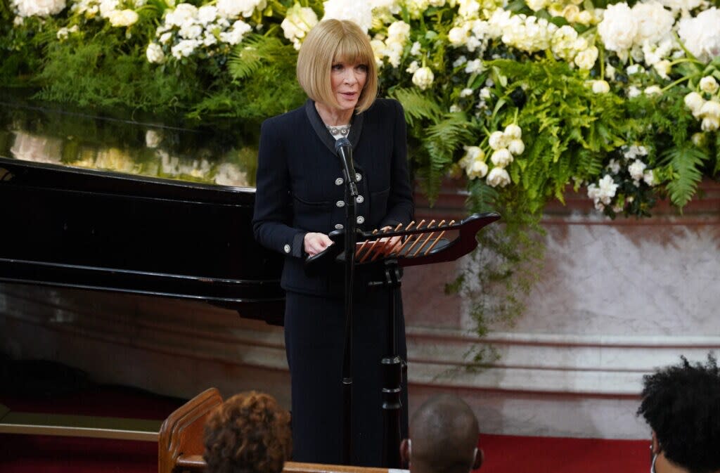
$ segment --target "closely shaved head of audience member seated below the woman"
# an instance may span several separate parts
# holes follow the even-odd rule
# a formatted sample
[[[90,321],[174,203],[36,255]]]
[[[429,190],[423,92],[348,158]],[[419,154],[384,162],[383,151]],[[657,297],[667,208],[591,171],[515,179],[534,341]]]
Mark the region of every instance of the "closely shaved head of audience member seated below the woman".
[[[463,400],[436,395],[410,419],[410,438],[400,443],[400,457],[412,473],[469,473],[482,464],[479,435],[477,418]]]

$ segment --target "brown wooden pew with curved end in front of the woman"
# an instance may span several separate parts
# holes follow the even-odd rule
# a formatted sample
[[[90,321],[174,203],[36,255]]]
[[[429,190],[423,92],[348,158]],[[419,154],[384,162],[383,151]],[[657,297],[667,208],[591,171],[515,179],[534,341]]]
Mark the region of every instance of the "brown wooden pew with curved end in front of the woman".
[[[203,429],[210,411],[222,404],[214,387],[179,407],[160,428],[158,473],[205,473]],[[286,461],[283,473],[390,473],[398,470]],[[402,471],[402,470],[400,470]]]

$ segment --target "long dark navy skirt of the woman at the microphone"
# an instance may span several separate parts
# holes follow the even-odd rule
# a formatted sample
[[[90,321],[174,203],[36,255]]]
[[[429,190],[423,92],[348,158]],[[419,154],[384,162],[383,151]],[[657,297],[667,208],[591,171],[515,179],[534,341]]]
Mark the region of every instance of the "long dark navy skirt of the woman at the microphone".
[[[382,462],[382,371],[390,323],[387,289],[354,295],[353,461]],[[402,304],[397,351],[407,359]],[[285,346],[292,379],[292,459],[340,464],[343,441],[342,366],[345,331],[343,299],[287,293]],[[408,436],[408,389],[403,383],[401,438]],[[399,446],[397,447],[399,448]]]

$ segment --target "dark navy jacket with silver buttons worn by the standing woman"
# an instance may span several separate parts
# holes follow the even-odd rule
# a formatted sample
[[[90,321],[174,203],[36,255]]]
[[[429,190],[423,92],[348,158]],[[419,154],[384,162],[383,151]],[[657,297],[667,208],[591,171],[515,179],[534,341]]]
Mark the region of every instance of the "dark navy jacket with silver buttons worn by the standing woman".
[[[348,139],[361,176],[361,230],[408,224],[413,192],[408,176],[405,115],[399,102],[377,99],[353,117]],[[261,245],[287,255],[281,284],[287,291],[342,294],[342,269],[307,276],[302,267],[305,233],[330,233],[345,222],[343,170],[335,138],[312,100],[266,120],[261,127],[253,230]],[[338,265],[339,266],[339,265]],[[356,276],[363,284],[363,275]]]

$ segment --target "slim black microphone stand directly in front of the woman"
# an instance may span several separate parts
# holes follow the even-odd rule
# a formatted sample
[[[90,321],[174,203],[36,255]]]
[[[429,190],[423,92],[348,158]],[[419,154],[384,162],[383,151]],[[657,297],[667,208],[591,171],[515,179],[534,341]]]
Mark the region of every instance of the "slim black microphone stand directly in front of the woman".
[[[351,464],[353,455],[353,289],[355,275],[356,215],[358,197],[355,169],[343,159],[345,174],[345,346],[343,350],[343,464]]]

